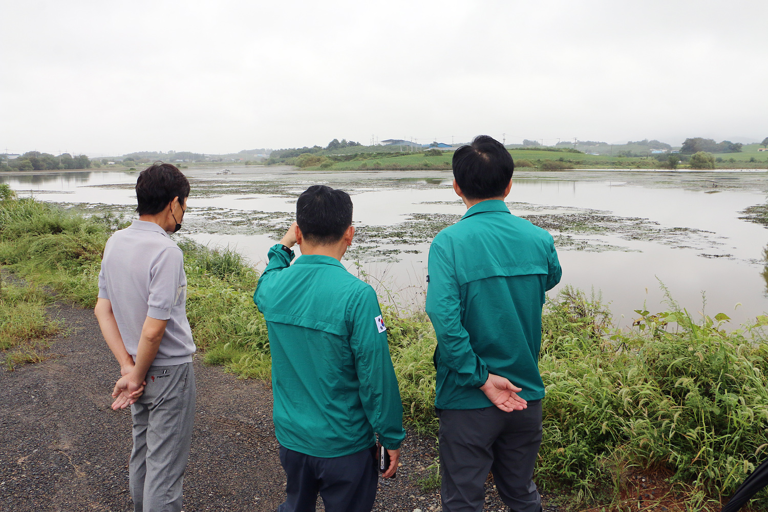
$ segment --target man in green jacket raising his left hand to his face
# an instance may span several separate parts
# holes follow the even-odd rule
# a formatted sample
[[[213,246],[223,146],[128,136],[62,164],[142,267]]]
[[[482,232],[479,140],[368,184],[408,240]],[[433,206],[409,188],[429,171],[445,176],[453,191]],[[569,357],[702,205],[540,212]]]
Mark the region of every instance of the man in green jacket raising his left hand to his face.
[[[352,200],[315,185],[296,223],[270,249],[253,301],[272,353],[273,421],[286,471],[281,512],[369,511],[376,498],[376,437],[397,470],[402,402],[376,292],[340,263],[352,244]],[[293,259],[294,244],[302,256]]]

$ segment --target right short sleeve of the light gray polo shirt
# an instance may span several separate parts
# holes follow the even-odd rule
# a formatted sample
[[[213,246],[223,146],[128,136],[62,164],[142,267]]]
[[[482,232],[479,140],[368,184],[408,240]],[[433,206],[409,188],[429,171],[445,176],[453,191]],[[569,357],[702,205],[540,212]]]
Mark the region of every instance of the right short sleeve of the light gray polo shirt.
[[[170,319],[170,310],[186,297],[183,281],[184,254],[178,247],[165,249],[150,269],[147,316],[157,320]]]

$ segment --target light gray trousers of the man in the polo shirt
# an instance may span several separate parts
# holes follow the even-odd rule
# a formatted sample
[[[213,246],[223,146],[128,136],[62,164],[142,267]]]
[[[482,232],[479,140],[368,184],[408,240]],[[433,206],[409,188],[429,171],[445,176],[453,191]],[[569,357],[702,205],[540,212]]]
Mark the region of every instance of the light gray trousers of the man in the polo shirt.
[[[192,363],[151,366],[131,413],[131,497],[135,512],[180,512],[196,388]]]

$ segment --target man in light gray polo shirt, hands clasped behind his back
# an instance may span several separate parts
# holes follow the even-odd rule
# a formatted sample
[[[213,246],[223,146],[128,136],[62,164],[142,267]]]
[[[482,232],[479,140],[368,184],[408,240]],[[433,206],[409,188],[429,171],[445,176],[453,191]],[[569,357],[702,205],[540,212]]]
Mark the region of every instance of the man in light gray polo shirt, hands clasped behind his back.
[[[112,408],[131,406],[131,497],[136,512],[179,512],[194,422],[195,345],[187,321],[181,227],[190,184],[170,164],[143,170],[139,220],[104,249],[94,312],[122,377]]]

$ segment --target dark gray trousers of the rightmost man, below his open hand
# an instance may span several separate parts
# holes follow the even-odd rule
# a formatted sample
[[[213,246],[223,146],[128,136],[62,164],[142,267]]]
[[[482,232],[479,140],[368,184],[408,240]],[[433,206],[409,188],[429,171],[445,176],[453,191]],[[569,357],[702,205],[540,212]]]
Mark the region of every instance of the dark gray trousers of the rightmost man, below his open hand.
[[[444,512],[479,512],[488,472],[512,512],[539,512],[533,470],[541,444],[541,400],[523,411],[438,409]]]

